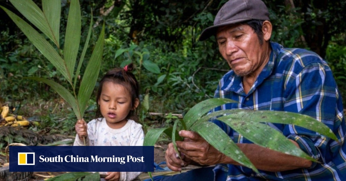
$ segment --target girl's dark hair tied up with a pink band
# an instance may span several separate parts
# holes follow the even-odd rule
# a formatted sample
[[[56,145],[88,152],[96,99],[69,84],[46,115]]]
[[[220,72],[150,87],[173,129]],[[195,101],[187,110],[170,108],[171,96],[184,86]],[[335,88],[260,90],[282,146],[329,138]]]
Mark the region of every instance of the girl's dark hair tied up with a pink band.
[[[115,84],[120,84],[124,86],[131,95],[131,107],[135,107],[135,100],[139,100],[139,85],[137,82],[137,79],[131,71],[133,70],[134,66],[132,63],[128,64],[124,68],[114,68],[109,70],[101,79],[99,83],[99,90],[96,95],[96,101],[98,101],[101,97],[102,92],[102,86],[104,82],[113,82]],[[132,119],[134,121],[138,121],[137,118],[137,111],[130,110],[129,114],[127,115],[126,119]],[[96,118],[102,117],[100,105],[97,103],[97,111],[96,111]]]

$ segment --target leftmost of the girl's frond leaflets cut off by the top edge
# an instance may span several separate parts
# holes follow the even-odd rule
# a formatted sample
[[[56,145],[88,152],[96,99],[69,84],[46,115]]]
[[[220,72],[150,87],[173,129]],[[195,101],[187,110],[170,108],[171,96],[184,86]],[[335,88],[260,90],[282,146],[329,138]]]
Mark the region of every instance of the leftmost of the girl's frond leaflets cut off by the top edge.
[[[10,0],[13,6],[58,46],[42,10],[32,0]],[[61,6],[61,4],[59,4]],[[8,13],[7,13],[8,14]],[[11,18],[12,19],[12,18]],[[12,19],[13,20],[13,19]],[[17,24],[18,26],[18,24]],[[23,30],[22,30],[23,31]],[[24,32],[24,31],[23,31]]]

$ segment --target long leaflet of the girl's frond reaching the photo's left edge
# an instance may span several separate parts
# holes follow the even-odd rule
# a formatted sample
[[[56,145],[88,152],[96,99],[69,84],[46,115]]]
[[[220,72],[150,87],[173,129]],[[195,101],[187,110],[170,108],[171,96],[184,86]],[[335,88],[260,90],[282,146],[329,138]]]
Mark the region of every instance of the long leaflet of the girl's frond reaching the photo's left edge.
[[[0,6],[8,16],[17,24],[20,30],[28,37],[28,39],[34,44],[34,46],[45,56],[49,62],[70,82],[70,76],[67,73],[67,69],[64,64],[64,60],[59,56],[49,42],[41,36],[34,28],[32,28],[27,22],[19,18],[16,14],[10,10]],[[71,83],[71,82],[70,82]],[[71,83],[72,84],[72,83]]]

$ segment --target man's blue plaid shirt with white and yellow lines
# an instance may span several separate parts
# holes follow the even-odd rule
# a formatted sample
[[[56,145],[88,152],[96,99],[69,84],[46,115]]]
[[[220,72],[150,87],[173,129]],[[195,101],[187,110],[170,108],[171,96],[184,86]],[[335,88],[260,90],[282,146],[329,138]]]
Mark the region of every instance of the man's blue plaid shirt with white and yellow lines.
[[[215,98],[228,98],[239,103],[222,105],[217,110],[253,109],[298,112],[325,123],[339,139],[336,141],[316,132],[288,124],[268,123],[321,163],[310,168],[282,172],[260,171],[231,164],[217,164],[216,180],[346,180],[346,125],[342,99],[327,62],[304,49],[283,48],[271,43],[269,62],[251,90],[246,94],[242,77],[232,70],[222,77]],[[225,123],[214,120],[236,143],[251,143]]]

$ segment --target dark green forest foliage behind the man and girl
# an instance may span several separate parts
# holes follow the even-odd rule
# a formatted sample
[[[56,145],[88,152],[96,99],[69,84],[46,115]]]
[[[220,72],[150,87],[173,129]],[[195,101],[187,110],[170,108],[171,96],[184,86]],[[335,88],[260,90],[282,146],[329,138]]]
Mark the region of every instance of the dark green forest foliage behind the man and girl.
[[[41,6],[40,0],[34,2]],[[80,0],[83,27],[81,44],[86,40],[92,11],[95,24],[90,47],[95,45],[101,25],[105,23],[100,77],[112,67],[133,62],[140,81],[142,103],[145,94],[149,94],[148,109],[138,111],[145,127],[150,126],[155,119],[160,119],[155,120],[160,124],[172,124],[173,119],[178,119],[172,119],[172,113],[185,114],[193,105],[213,97],[218,80],[229,70],[213,37],[207,41],[198,41],[201,31],[212,24],[218,9],[225,2]],[[264,2],[274,25],[272,41],[286,47],[307,48],[324,57],[334,72],[346,105],[346,0]],[[61,32],[66,30],[69,3],[69,0],[62,1]],[[0,5],[16,13],[9,2],[1,1]],[[119,16],[116,16],[119,11]],[[17,15],[22,17],[19,13]],[[63,86],[68,86],[68,82],[26,39],[4,11],[0,11],[0,16],[1,102],[9,103],[18,108],[18,113],[42,122],[40,128],[32,129],[50,127],[52,130],[74,134],[76,118],[73,111],[60,100],[55,91],[44,83],[21,78],[43,77]],[[60,34],[62,46],[64,36]],[[120,49],[124,51],[119,53]],[[90,55],[91,51],[85,57]],[[160,71],[147,69],[145,60],[157,65]],[[82,70],[85,67],[86,64],[83,64]],[[94,117],[94,97],[95,94],[88,103],[90,107],[86,110],[86,120]],[[152,118],[148,112],[171,114]]]

